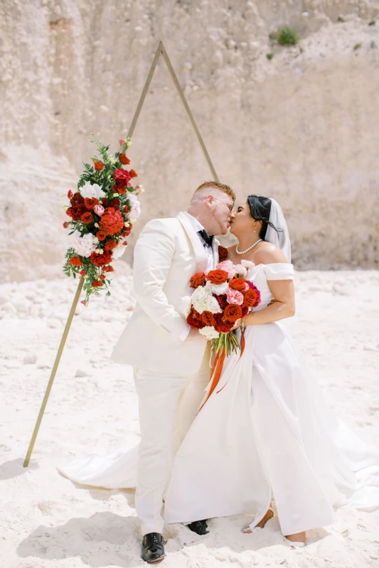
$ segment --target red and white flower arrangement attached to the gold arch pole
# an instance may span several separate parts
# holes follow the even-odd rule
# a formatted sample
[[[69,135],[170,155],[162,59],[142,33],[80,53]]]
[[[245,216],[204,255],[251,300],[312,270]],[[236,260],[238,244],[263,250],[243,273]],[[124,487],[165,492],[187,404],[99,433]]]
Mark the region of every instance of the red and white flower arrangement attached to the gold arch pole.
[[[85,306],[90,295],[100,295],[100,289],[107,289],[110,295],[111,263],[124,253],[126,237],[141,214],[137,195],[144,188],[132,185],[137,173],[124,168],[130,163],[126,155],[129,146],[130,138],[120,140],[119,151],[112,155],[109,146],[97,143],[99,157],[92,158],[92,164],[84,164],[78,191],[69,190],[70,205],[63,206],[70,217],[63,227],[71,229],[72,239],[63,271],[67,276],[85,278]]]

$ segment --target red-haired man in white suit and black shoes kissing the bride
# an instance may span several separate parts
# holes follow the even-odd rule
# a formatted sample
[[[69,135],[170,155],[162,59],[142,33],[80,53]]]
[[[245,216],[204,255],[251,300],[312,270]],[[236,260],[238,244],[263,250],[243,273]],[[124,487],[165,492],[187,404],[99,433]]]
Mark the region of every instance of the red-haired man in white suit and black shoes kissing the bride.
[[[215,234],[226,234],[235,193],[205,182],[187,212],[146,224],[134,249],[137,305],[111,359],[134,367],[139,399],[136,509],[142,525],[142,558],[164,557],[161,517],[174,453],[196,416],[210,379],[210,342],[191,329],[180,310],[190,280],[218,263]],[[188,525],[205,534],[205,521]]]

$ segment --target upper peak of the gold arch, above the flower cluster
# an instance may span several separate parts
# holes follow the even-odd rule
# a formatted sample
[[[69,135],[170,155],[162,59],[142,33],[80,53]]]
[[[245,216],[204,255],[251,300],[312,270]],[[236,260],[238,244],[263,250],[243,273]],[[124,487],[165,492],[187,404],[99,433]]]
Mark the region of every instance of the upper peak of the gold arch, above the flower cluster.
[[[175,71],[174,71],[174,67],[171,65],[171,61],[170,61],[169,55],[167,55],[166,49],[164,48],[164,45],[163,45],[163,42],[162,42],[162,41],[159,42],[158,49],[156,50],[156,54],[155,54],[155,56],[154,56],[154,60],[153,60],[153,62],[151,63],[151,67],[150,67],[150,70],[149,70],[149,75],[147,75],[147,79],[146,79],[146,82],[145,82],[145,84],[144,84],[144,89],[142,90],[141,97],[139,97],[139,102],[138,102],[138,104],[137,104],[137,109],[136,109],[136,111],[135,111],[135,113],[134,113],[133,120],[132,120],[132,124],[130,125],[130,128],[129,128],[128,137],[132,138],[132,136],[133,136],[134,129],[135,129],[136,124],[137,124],[137,121],[138,121],[138,119],[139,119],[139,114],[141,113],[142,107],[144,106],[144,102],[145,102],[145,99],[146,99],[146,94],[147,94],[148,91],[149,91],[150,83],[151,83],[151,80],[152,80],[152,78],[153,78],[154,71],[155,71],[155,69],[156,69],[156,65],[158,65],[159,58],[160,58],[161,56],[164,58],[164,62],[166,63],[167,69],[169,70],[169,73],[170,73],[170,75],[171,75],[171,79],[173,80],[174,85],[175,85],[175,87],[176,87],[176,90],[178,91],[178,95],[179,95],[179,97],[181,97],[181,102],[183,102],[184,108],[186,109],[186,113],[188,114],[188,118],[189,118],[190,121],[191,121],[191,124],[192,124],[192,126],[193,126],[193,130],[194,130],[195,133],[196,133],[196,136],[197,136],[198,141],[199,141],[199,143],[200,143],[201,149],[203,150],[203,153],[204,153],[204,155],[205,155],[205,159],[207,160],[208,165],[209,165],[209,168],[210,168],[210,171],[212,172],[213,180],[215,180],[216,182],[218,182],[218,181],[219,181],[219,180],[218,180],[218,175],[217,175],[217,173],[215,172],[215,168],[214,168],[214,166],[213,166],[212,160],[210,160],[210,155],[208,154],[208,150],[205,148],[205,143],[204,143],[204,141],[203,141],[203,138],[201,137],[201,133],[200,133],[200,131],[199,131],[199,129],[198,129],[198,125],[196,124],[196,121],[195,121],[195,119],[193,118],[193,114],[192,114],[192,112],[191,112],[190,107],[188,106],[188,102],[187,102],[186,96],[185,96],[185,94],[184,94],[184,92],[183,92],[183,89],[181,88],[180,83],[178,82],[178,77],[176,77],[176,73],[175,73]]]

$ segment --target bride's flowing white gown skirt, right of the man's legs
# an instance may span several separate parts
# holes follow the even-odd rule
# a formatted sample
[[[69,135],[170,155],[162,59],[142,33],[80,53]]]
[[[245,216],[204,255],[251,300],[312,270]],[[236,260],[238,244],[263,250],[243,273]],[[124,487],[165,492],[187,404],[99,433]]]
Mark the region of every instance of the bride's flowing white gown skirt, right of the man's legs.
[[[166,522],[252,513],[253,527],[273,495],[290,535],[331,525],[334,507],[378,507],[379,449],[333,415],[284,325],[245,339],[176,454]]]

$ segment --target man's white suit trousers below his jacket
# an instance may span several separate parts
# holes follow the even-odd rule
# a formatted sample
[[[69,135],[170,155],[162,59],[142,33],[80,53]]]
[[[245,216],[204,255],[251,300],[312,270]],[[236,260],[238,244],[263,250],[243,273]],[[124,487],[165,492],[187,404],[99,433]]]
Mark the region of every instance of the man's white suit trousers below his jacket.
[[[174,454],[191,426],[210,380],[210,342],[195,375],[169,375],[134,368],[139,400],[136,510],[142,535],[162,532],[163,495]]]

